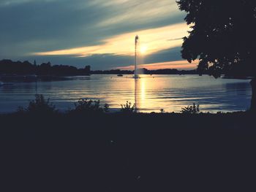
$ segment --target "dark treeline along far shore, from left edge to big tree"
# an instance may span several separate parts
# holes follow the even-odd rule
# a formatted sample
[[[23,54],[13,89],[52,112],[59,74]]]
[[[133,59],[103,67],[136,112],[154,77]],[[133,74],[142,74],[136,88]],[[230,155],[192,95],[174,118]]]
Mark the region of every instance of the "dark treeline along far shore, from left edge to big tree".
[[[148,69],[139,69],[141,74],[198,74],[197,70],[182,70],[178,69],[157,69],[157,70],[148,70]],[[18,74],[18,75],[27,75],[27,74],[37,74],[37,75],[88,75],[88,74],[134,74],[132,70],[120,70],[120,69],[111,69],[111,70],[97,70],[91,71],[91,66],[85,66],[83,69],[78,69],[75,66],[68,65],[52,65],[50,62],[42,63],[37,65],[34,61],[34,64],[31,64],[29,61],[11,61],[11,60],[2,60],[0,61],[0,74]]]

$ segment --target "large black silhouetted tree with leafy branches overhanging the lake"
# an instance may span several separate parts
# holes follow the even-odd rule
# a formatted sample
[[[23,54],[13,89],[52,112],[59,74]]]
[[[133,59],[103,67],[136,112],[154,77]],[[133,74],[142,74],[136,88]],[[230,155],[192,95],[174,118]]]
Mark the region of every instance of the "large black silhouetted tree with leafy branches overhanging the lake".
[[[256,111],[256,1],[179,0],[192,29],[184,37],[182,57],[199,59],[199,72],[252,76],[251,110]]]

